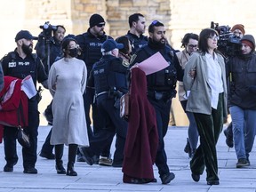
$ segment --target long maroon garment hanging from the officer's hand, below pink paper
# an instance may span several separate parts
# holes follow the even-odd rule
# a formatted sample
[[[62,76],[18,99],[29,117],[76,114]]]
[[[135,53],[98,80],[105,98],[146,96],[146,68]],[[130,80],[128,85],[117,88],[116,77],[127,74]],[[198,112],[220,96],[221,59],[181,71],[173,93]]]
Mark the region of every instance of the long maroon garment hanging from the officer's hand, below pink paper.
[[[124,147],[123,172],[139,179],[154,179],[158,148],[155,109],[147,99],[147,81],[140,68],[132,68],[131,116]]]

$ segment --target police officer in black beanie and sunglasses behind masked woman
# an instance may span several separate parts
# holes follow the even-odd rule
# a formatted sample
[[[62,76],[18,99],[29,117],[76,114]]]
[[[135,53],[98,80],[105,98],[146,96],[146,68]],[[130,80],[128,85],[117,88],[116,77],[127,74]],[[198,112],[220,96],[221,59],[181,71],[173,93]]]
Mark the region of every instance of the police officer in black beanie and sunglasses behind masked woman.
[[[87,74],[88,77],[90,76],[90,72],[92,70],[92,65],[99,61],[102,57],[102,53],[100,52],[101,45],[105,42],[108,38],[113,39],[111,36],[107,36],[105,34],[105,20],[102,18],[100,14],[92,14],[89,20],[90,28],[88,28],[87,32],[84,34],[80,34],[76,36],[77,44],[79,44],[80,48],[82,49],[81,55],[78,57],[81,60],[84,60],[86,67],[87,67]],[[88,82],[88,81],[87,81]],[[98,113],[97,106],[93,102],[94,98],[94,87],[90,87],[89,85],[86,86],[86,90],[84,92],[84,110],[85,110],[85,117],[86,117],[86,124],[87,130],[89,135],[89,140],[92,135],[91,127],[91,117],[90,117],[90,108],[92,106],[92,120],[93,120],[93,132],[98,132],[104,125],[100,124],[102,122],[102,118],[100,117],[100,113]],[[106,157],[111,161],[108,156],[110,156],[110,147],[106,147],[104,152],[101,156]],[[83,158],[80,158],[80,154],[78,153],[77,161],[82,161]]]

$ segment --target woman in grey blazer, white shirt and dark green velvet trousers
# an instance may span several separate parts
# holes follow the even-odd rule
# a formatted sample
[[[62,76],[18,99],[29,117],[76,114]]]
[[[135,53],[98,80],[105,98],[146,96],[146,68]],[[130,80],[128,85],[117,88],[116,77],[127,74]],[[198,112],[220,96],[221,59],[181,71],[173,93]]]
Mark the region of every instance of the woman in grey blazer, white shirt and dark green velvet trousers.
[[[199,52],[193,53],[184,72],[184,88],[188,92],[186,110],[196,119],[200,145],[190,161],[192,179],[198,182],[206,167],[207,185],[219,185],[216,143],[227,116],[227,84],[225,63],[217,52],[218,32],[201,31]]]

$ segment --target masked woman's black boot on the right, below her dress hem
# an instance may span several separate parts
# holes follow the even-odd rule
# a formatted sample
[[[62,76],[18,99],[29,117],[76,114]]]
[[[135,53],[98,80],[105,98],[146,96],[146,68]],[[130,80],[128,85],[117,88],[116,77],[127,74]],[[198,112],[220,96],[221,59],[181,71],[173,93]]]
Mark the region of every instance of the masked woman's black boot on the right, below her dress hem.
[[[77,152],[77,145],[69,144],[68,145],[68,168],[67,168],[67,175],[69,176],[77,176],[77,172],[75,172],[74,170],[74,162],[76,161],[76,152]]]

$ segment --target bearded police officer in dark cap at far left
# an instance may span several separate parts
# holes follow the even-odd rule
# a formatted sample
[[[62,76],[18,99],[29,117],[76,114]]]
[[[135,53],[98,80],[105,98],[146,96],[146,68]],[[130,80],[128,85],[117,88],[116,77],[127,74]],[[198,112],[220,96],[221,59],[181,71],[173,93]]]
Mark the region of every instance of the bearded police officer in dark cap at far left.
[[[14,76],[20,79],[30,75],[36,86],[36,80],[47,88],[47,76],[41,60],[33,54],[33,40],[28,30],[20,30],[15,37],[17,48],[4,56],[2,65],[4,76]],[[30,148],[22,148],[24,173],[37,173],[36,148],[39,126],[39,112],[36,96],[28,100],[28,127],[24,129],[29,135]],[[16,151],[17,129],[4,126],[4,155],[6,164],[4,172],[13,172],[13,166],[18,162]]]

